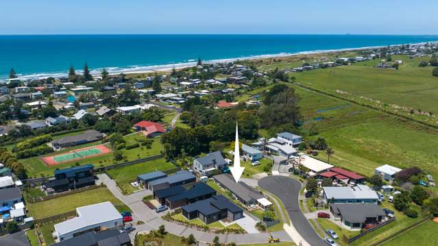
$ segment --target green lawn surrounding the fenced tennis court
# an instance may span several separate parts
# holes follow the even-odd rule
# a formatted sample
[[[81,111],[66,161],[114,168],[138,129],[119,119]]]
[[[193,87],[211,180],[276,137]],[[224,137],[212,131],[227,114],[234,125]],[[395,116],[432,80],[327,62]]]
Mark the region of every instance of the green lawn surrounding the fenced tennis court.
[[[126,145],[130,145],[132,143],[137,143],[136,138],[144,138],[141,134],[130,134],[124,137],[126,141]],[[151,138],[154,142],[151,145],[151,149],[147,149],[144,146],[137,147],[134,149],[122,149],[123,156],[125,156],[124,160],[119,162],[114,162],[112,153],[108,153],[101,156],[96,156],[93,158],[86,158],[83,160],[77,160],[73,162],[66,162],[57,165],[53,165],[51,167],[47,167],[40,157],[32,157],[27,159],[21,159],[20,162],[23,163],[26,169],[26,173],[29,177],[40,177],[41,175],[53,175],[53,171],[55,169],[63,169],[66,167],[71,167],[74,164],[93,164],[95,167],[106,167],[112,164],[117,164],[125,161],[137,160],[138,158],[146,158],[148,156],[156,156],[159,155],[162,151],[162,145],[160,143],[160,138]],[[45,156],[51,156],[53,154],[64,153],[66,151],[71,151],[72,149],[80,149],[84,147],[90,147],[94,145],[99,145],[100,142],[95,143],[87,143],[84,145],[78,145],[72,148],[63,149],[62,151],[56,151],[56,153],[49,153]],[[109,146],[107,144],[107,146]]]

